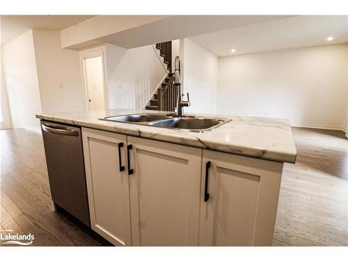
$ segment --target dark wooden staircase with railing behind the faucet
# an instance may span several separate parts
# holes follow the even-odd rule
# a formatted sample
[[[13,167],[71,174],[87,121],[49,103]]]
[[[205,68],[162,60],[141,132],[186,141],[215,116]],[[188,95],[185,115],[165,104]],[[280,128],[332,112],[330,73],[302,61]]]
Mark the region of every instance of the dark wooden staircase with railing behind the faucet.
[[[147,110],[156,111],[174,111],[177,88],[173,86],[174,74],[172,73],[172,42],[161,42],[156,44],[159,49],[159,55],[164,58],[164,64],[167,65],[168,75],[157,88],[149,104],[145,107]]]

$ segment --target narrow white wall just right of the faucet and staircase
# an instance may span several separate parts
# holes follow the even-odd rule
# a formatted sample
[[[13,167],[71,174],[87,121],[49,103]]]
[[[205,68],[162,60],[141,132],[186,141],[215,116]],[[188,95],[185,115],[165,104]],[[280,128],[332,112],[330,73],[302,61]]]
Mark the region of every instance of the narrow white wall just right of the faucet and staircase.
[[[219,58],[200,47],[195,42],[185,38],[180,41],[183,46],[182,84],[185,98],[189,92],[191,106],[185,107],[185,112],[215,113],[216,90]]]

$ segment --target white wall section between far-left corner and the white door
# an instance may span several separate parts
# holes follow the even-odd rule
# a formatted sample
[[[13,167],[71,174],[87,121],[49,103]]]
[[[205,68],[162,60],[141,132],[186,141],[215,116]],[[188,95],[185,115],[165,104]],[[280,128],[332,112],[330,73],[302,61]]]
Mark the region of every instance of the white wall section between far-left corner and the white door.
[[[61,48],[59,31],[33,30],[42,111],[83,111],[79,53]]]

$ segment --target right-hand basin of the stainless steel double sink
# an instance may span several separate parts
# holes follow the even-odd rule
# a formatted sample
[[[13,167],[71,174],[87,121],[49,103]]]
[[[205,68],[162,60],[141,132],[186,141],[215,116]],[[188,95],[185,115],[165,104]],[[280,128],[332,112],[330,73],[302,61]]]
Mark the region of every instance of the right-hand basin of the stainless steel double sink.
[[[202,132],[217,127],[229,119],[219,118],[187,118],[187,117],[175,117],[166,120],[159,120],[155,122],[149,122],[151,126],[167,127],[175,129],[189,129],[192,132]]]

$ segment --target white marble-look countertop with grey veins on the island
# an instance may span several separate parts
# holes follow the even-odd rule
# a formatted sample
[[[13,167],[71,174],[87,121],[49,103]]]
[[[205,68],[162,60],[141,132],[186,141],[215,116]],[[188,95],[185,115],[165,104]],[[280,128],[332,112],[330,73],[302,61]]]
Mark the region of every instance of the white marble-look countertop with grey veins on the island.
[[[42,113],[37,114],[36,118],[272,161],[294,163],[296,160],[296,148],[289,120],[197,114],[232,119],[220,127],[203,133],[99,120],[105,116],[142,112],[164,113],[164,111],[113,109]]]

